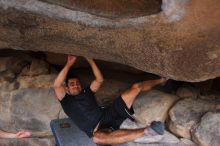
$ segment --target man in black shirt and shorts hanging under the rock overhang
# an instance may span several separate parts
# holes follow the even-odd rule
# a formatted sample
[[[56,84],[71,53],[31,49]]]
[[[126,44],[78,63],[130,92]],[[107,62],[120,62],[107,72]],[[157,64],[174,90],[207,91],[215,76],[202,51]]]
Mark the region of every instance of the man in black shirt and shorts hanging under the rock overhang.
[[[137,95],[142,91],[151,90],[156,85],[164,84],[166,78],[135,83],[111,105],[102,109],[96,103],[95,93],[103,84],[104,78],[94,60],[86,59],[95,76],[88,87],[82,88],[78,77],[68,76],[70,68],[76,61],[75,56],[69,55],[65,66],[54,81],[54,90],[64,112],[93,139],[94,143],[121,144],[143,136],[163,135],[164,124],[157,121],[140,129],[119,129],[119,127],[127,118],[134,120],[132,105]]]

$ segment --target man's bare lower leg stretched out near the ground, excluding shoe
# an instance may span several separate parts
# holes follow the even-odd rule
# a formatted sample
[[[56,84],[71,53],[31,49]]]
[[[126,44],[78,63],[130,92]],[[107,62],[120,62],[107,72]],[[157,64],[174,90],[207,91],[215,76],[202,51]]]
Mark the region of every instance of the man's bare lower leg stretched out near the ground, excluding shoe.
[[[144,136],[144,128],[121,129],[112,132],[97,131],[94,133],[93,142],[96,144],[121,144]]]

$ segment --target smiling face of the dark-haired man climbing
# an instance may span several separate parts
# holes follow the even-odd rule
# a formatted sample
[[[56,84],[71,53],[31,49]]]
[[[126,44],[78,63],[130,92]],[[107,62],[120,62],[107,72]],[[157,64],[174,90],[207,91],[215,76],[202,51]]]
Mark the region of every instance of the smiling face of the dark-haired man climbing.
[[[78,95],[82,90],[81,84],[77,78],[68,80],[67,89],[71,95]]]

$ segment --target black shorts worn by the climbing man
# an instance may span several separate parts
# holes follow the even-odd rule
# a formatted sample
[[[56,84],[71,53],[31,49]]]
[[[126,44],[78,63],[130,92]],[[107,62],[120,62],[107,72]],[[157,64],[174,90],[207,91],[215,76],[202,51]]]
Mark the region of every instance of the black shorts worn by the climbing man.
[[[99,130],[117,130],[125,119],[129,118],[134,121],[133,114],[133,107],[129,109],[122,97],[118,97],[110,106],[104,109]]]

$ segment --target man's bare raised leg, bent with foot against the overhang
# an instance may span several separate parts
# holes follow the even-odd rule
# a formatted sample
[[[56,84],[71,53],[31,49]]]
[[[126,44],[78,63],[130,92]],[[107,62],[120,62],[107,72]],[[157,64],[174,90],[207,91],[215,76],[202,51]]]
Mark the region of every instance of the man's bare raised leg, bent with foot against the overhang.
[[[159,85],[159,84],[163,84],[165,82],[166,82],[166,78],[160,78],[160,79],[157,79],[157,80],[148,80],[148,81],[135,83],[135,84],[132,85],[132,87],[130,89],[123,92],[121,97],[124,100],[126,106],[128,108],[131,108],[131,106],[134,103],[137,95],[141,91],[149,91],[154,86]]]

